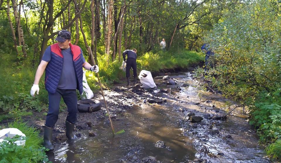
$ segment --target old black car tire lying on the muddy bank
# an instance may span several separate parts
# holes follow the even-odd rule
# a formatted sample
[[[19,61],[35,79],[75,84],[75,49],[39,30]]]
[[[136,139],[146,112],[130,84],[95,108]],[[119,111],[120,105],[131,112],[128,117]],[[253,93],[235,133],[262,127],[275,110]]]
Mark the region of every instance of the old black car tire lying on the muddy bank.
[[[101,103],[96,99],[84,99],[77,102],[79,112],[95,112],[100,110]]]

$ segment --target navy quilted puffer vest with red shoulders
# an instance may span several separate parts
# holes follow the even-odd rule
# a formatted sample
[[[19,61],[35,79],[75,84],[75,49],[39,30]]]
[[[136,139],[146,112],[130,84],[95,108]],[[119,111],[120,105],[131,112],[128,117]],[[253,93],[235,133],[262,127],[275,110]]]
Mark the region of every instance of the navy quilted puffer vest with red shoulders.
[[[83,93],[83,59],[82,51],[79,46],[69,44],[71,53],[73,55],[73,66],[77,78],[77,89],[79,93]],[[61,77],[62,65],[64,63],[64,56],[61,53],[58,43],[49,46],[45,53],[51,53],[51,60],[46,67],[45,73],[45,88],[50,93],[55,93],[59,85]]]

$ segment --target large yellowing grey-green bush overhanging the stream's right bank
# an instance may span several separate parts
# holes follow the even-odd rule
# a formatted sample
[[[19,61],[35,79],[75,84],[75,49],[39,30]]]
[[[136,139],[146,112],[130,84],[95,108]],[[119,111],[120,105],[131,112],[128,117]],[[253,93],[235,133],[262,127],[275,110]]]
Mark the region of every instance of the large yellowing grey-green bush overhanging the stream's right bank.
[[[249,100],[279,88],[280,22],[271,4],[261,0],[230,9],[208,33],[216,65],[207,79],[235,100]],[[274,20],[274,21],[273,21]]]

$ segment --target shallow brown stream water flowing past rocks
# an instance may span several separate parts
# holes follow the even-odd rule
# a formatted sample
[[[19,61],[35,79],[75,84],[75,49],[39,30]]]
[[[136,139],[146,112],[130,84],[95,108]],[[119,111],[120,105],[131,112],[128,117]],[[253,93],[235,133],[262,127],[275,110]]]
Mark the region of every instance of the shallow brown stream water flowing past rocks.
[[[125,133],[112,137],[108,121],[101,121],[91,129],[97,134],[95,137],[89,137],[88,130],[81,130],[81,137],[76,143],[63,143],[59,150],[49,152],[50,161],[130,162],[128,160],[134,157],[152,156],[162,163],[188,162],[196,158],[206,159],[207,162],[269,162],[263,158],[263,148],[258,145],[258,138],[241,110],[234,110],[226,121],[204,118],[194,126],[185,120],[188,112],[201,117],[223,114],[227,100],[202,102],[198,96],[200,83],[189,72],[172,75],[179,80],[177,85],[160,86],[168,93],[163,94],[160,89],[154,91],[155,96],[161,96],[167,102],[158,105],[140,100],[133,109],[123,112],[113,121],[115,130],[124,129]],[[155,79],[155,82],[162,80]],[[221,98],[219,94],[205,92],[205,95]],[[219,133],[211,134],[212,131]],[[165,142],[166,148],[155,147],[159,140]]]

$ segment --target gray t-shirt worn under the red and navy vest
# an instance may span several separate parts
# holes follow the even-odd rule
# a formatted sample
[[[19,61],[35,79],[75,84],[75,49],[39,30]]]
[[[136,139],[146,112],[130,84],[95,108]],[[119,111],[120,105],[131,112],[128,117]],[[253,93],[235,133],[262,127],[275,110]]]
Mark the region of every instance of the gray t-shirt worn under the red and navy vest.
[[[61,49],[61,53],[64,56],[64,64],[62,65],[61,77],[59,79],[58,89],[76,89],[77,88],[77,78],[75,75],[74,65],[73,65],[73,55],[71,53],[71,48]],[[85,58],[82,56],[83,63],[85,63]],[[49,62],[51,60],[50,53],[44,53],[42,60]]]

